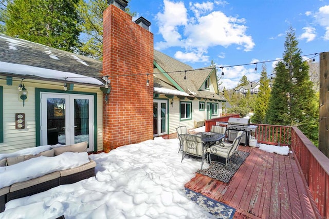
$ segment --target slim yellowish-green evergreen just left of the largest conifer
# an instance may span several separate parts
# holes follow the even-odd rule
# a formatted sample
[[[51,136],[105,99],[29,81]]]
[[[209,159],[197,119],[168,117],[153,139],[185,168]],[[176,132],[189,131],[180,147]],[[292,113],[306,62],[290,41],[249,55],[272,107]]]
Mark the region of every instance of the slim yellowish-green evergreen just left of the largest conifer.
[[[267,78],[266,66],[263,65],[260,78],[260,88],[254,105],[254,115],[251,117],[253,123],[266,124],[265,115],[268,109],[270,92],[271,90],[269,87],[269,79]]]

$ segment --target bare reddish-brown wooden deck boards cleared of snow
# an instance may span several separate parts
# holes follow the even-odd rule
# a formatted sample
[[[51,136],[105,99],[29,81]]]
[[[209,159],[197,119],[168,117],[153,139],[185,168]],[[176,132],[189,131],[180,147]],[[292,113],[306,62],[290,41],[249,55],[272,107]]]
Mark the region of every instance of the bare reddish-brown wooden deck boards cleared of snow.
[[[234,218],[317,218],[293,154],[250,152],[229,183],[197,173],[185,186],[236,209]]]

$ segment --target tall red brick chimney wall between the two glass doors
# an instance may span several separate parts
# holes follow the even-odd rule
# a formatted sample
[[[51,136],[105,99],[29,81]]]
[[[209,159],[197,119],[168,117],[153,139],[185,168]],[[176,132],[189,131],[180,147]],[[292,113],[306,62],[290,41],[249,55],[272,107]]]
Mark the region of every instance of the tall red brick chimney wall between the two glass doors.
[[[111,79],[103,105],[103,149],[153,139],[153,34],[114,5],[103,14],[103,74]]]

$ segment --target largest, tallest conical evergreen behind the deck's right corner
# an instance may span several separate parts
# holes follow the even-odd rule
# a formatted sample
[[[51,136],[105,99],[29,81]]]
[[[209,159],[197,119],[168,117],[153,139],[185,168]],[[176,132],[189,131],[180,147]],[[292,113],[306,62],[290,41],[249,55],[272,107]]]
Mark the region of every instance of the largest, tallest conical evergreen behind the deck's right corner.
[[[299,126],[315,144],[318,140],[318,107],[308,65],[302,61],[295,31],[290,28],[284,43],[283,62],[275,68],[267,119],[269,124]]]

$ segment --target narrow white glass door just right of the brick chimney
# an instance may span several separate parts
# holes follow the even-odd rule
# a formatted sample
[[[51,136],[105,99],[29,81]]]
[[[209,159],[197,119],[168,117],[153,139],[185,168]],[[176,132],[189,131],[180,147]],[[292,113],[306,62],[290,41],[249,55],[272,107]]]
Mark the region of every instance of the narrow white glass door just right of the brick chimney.
[[[153,101],[153,136],[167,134],[168,130],[168,101],[154,99]]]

